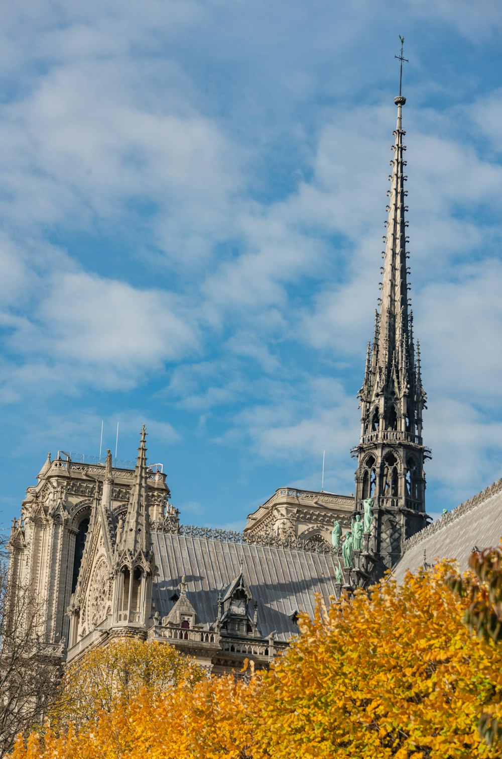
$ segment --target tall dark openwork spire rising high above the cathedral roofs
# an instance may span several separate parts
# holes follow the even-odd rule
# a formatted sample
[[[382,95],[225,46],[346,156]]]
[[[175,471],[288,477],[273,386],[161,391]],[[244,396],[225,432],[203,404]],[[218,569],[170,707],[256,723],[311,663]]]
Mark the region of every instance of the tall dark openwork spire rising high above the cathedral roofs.
[[[406,222],[401,111],[406,102],[394,99],[397,125],[392,146],[391,188],[387,206],[387,235],[380,310],[368,343],[366,369],[359,391],[361,439],[357,456],[356,512],[363,499],[373,499],[372,549],[378,556],[378,574],[393,566],[403,543],[425,527],[424,459],[430,452],[422,443],[422,410],[426,396],[420,376],[419,344],[413,343],[413,314],[409,309],[406,260]]]

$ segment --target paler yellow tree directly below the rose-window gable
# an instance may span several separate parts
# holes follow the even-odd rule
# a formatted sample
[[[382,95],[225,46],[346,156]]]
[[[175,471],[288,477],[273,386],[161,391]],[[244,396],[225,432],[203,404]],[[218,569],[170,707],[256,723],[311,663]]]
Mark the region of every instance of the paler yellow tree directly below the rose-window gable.
[[[97,710],[123,708],[142,688],[160,693],[179,682],[200,680],[202,669],[172,646],[138,638],[116,638],[86,653],[64,671],[49,722],[60,731],[70,723],[79,729]]]

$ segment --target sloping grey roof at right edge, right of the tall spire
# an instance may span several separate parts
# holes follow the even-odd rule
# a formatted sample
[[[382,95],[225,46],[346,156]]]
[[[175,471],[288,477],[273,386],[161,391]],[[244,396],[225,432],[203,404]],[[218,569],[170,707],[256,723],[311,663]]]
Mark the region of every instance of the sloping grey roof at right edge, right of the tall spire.
[[[502,537],[502,480],[478,493],[430,524],[407,541],[409,547],[393,570],[402,583],[406,569],[416,570],[424,563],[437,559],[457,559],[460,571],[468,568],[469,554],[474,546],[497,546]],[[406,546],[405,546],[406,547]]]

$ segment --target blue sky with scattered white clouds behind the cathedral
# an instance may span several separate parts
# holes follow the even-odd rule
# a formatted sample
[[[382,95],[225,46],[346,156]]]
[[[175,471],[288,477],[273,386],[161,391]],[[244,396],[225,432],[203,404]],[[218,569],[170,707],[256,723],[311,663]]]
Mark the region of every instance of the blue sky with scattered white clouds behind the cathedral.
[[[18,0],[0,24],[6,523],[50,450],[168,472],[239,527],[353,491],[403,111],[427,507],[502,462],[499,2]]]

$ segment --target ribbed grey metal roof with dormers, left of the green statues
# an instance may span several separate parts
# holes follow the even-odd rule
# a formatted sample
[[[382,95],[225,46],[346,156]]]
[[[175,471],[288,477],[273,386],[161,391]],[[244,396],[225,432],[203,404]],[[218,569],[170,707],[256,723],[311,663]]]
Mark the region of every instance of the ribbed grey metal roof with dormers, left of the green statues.
[[[155,565],[152,599],[161,616],[174,606],[185,575],[187,597],[196,610],[197,624],[215,622],[218,592],[242,572],[258,603],[258,627],[263,637],[275,631],[278,641],[298,632],[291,619],[295,611],[313,616],[315,594],[334,596],[337,559],[320,553],[270,546],[225,543],[202,537],[152,532]]]

